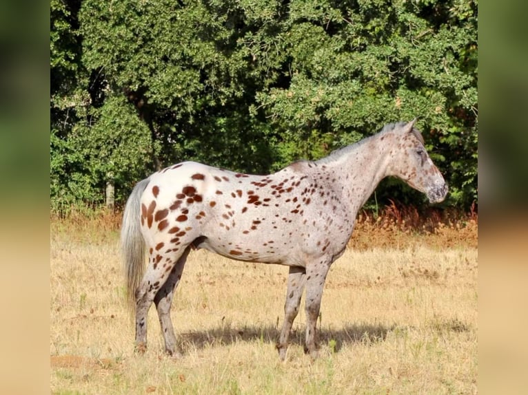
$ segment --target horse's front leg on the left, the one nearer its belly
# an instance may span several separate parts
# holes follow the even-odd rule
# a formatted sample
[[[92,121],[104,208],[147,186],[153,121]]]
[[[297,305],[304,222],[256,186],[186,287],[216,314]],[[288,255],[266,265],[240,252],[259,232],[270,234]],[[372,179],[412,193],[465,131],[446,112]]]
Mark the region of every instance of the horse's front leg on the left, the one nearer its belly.
[[[301,296],[305,287],[305,268],[290,267],[288,275],[288,286],[286,291],[286,301],[284,303],[284,322],[281,329],[281,335],[278,338],[276,348],[278,356],[281,360],[285,360],[286,351],[288,348],[288,339],[290,331],[297,313],[299,311],[299,304],[301,303]]]

